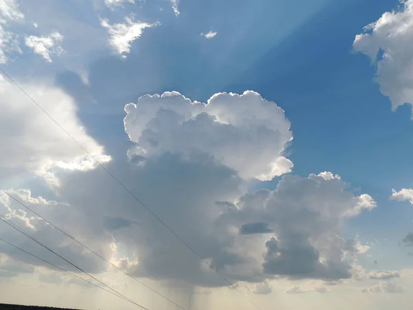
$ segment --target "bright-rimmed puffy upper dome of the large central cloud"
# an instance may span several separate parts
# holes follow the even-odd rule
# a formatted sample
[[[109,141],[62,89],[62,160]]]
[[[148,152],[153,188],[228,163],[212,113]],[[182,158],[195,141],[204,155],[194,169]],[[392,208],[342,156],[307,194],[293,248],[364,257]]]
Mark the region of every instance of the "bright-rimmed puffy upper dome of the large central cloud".
[[[207,105],[165,92],[142,96],[125,111],[125,131],[136,143],[129,156],[201,152],[242,178],[259,180],[271,180],[293,167],[283,156],[293,139],[290,122],[281,108],[256,92],[215,94]]]

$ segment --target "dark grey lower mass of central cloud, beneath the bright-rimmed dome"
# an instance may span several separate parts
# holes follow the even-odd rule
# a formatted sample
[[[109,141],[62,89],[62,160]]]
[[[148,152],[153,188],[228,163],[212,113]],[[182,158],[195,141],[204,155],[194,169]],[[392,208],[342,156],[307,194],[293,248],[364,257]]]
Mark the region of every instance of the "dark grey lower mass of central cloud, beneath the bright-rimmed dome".
[[[355,216],[348,209],[357,209],[357,196],[345,190],[346,183],[314,175],[284,176],[273,192],[262,189],[239,196],[244,191],[243,181],[232,169],[207,158],[194,159],[165,154],[133,169],[130,164],[111,169],[231,282],[263,283],[275,276],[322,280],[352,276],[352,258],[358,251],[352,242],[337,237],[346,218]],[[119,245],[119,255],[130,262],[137,259],[137,264],[125,264],[129,272],[203,287],[227,285],[188,255],[125,192],[114,189],[103,174],[100,169],[67,174],[62,177],[59,195],[76,206],[89,229],[101,231],[105,227]],[[88,190],[74,195],[80,183]],[[184,195],[176,194],[182,191]],[[116,220],[108,223],[107,218]],[[275,237],[240,234],[243,224],[261,223],[263,218]],[[85,238],[100,242],[99,235]]]

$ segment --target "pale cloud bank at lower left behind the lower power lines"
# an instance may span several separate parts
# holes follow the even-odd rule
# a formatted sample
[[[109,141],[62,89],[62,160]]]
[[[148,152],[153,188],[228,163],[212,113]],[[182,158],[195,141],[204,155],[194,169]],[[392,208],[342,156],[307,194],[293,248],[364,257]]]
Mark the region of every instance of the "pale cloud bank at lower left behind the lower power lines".
[[[70,231],[70,228],[76,227],[76,223],[79,223],[81,216],[76,213],[76,211],[67,203],[58,203],[53,200],[45,200],[42,197],[33,197],[32,193],[28,189],[18,189],[18,190],[8,190],[8,194],[13,197],[23,201],[25,205],[32,209],[36,209],[40,214],[43,214],[48,220],[51,220],[54,224],[59,226],[61,229]],[[19,205],[16,201],[12,200],[6,194],[0,192],[0,215],[3,218],[6,218],[8,221],[14,223],[28,234],[32,235],[34,238],[41,240],[47,247],[50,247],[57,253],[61,254],[63,257],[70,260],[75,265],[81,266],[83,269],[89,272],[98,273],[107,270],[107,265],[102,260],[98,259],[96,256],[90,254],[87,251],[79,246],[76,242],[68,240],[67,237],[61,234],[59,231],[56,231],[51,225],[47,225],[45,221],[41,220],[32,214],[28,214],[25,210],[22,210],[22,206]],[[29,238],[26,238],[18,231],[15,231],[8,225],[1,225],[0,227],[1,236],[5,236],[6,241],[17,245],[25,251],[39,256],[49,262],[52,262],[54,265],[63,267],[70,271],[77,272],[72,265],[69,265],[67,262],[61,260],[61,258],[55,256],[49,251],[46,251],[36,243],[32,242]],[[96,245],[95,245],[96,247]],[[107,245],[98,249],[101,253],[104,254],[113,254],[113,251]],[[15,263],[14,265],[20,266],[19,268],[25,268],[27,265],[47,267],[48,269],[52,268],[50,265],[45,264],[41,260],[38,260],[32,256],[14,249],[9,245],[6,245],[3,242],[0,242],[0,253],[6,254],[10,260]],[[108,255],[108,256],[109,256]],[[4,267],[0,267],[4,269]],[[8,269],[10,271],[10,268]],[[12,276],[16,276],[19,271],[14,269]],[[30,271],[33,269],[30,267]]]

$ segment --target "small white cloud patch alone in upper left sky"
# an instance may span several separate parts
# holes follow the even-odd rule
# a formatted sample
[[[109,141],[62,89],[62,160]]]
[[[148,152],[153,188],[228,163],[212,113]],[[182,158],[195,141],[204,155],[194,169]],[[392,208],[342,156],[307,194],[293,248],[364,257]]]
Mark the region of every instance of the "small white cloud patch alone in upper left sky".
[[[50,58],[50,54],[56,54],[57,56],[59,56],[63,53],[63,48],[60,45],[62,40],[63,35],[61,35],[59,32],[52,32],[47,36],[25,37],[25,45],[27,45],[29,48],[32,48],[34,54],[43,56],[43,58],[48,63],[51,63],[52,59]]]

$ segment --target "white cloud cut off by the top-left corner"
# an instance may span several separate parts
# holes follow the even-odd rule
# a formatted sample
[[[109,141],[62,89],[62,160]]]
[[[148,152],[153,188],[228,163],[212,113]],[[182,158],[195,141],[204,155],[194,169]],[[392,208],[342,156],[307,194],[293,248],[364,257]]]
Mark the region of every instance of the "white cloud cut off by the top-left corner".
[[[6,63],[9,54],[21,53],[17,34],[7,28],[10,22],[23,19],[24,15],[15,0],[0,0],[0,63]]]

